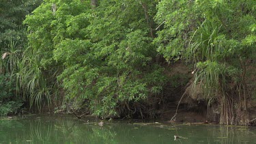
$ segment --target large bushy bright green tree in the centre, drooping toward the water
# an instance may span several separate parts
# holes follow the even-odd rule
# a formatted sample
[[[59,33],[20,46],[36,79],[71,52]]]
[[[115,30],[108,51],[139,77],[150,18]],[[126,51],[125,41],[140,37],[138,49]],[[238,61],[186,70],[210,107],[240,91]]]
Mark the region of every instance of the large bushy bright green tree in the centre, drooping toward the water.
[[[57,6],[52,12],[53,3]],[[31,51],[55,73],[72,108],[115,115],[124,102],[160,93],[163,69],[154,63],[154,1],[45,1],[27,16]],[[59,70],[59,69],[58,69]]]

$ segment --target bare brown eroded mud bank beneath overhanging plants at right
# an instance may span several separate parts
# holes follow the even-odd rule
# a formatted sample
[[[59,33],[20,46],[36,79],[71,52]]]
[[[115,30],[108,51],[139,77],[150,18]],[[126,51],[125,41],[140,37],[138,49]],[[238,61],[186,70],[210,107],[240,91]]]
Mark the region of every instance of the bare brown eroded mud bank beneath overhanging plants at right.
[[[175,102],[177,103],[177,102]],[[236,126],[256,126],[256,103],[250,102],[248,110],[234,109],[233,124]],[[176,104],[177,106],[177,104]],[[218,103],[208,106],[203,100],[193,100],[186,96],[180,102],[179,109],[176,113],[175,109],[161,113],[160,119],[165,121],[183,122],[183,123],[206,123],[219,124],[221,112]]]

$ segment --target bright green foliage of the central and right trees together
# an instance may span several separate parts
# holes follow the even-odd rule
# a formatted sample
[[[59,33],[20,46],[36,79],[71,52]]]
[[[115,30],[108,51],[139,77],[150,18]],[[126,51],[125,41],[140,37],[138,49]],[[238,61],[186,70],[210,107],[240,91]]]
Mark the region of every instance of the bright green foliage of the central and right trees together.
[[[86,106],[102,117],[127,114],[136,109],[130,103],[162,91],[167,80],[156,63],[160,55],[197,63],[195,83],[203,83],[207,95],[223,91],[233,77],[237,83],[239,63],[254,53],[254,4],[101,0],[91,9],[90,1],[46,0],[25,20],[27,51],[35,55],[33,72],[38,78],[53,75],[47,85],[58,77],[74,109]]]

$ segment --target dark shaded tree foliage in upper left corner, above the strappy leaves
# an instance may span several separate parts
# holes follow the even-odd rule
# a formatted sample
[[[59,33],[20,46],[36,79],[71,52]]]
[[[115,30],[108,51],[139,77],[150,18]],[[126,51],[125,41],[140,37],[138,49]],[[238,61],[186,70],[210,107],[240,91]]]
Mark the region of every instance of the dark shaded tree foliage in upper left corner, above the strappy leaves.
[[[26,29],[22,25],[25,16],[40,4],[40,1],[8,1],[0,2],[0,44],[1,51],[9,49],[12,43],[21,47],[26,38]]]

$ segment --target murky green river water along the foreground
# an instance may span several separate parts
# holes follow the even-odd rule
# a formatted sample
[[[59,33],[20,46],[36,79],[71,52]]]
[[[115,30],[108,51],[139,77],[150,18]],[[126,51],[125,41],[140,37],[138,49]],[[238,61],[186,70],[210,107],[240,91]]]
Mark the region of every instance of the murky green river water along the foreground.
[[[186,139],[174,141],[174,135]],[[104,121],[104,126],[70,116],[0,118],[0,143],[256,143],[256,128],[174,126]]]

